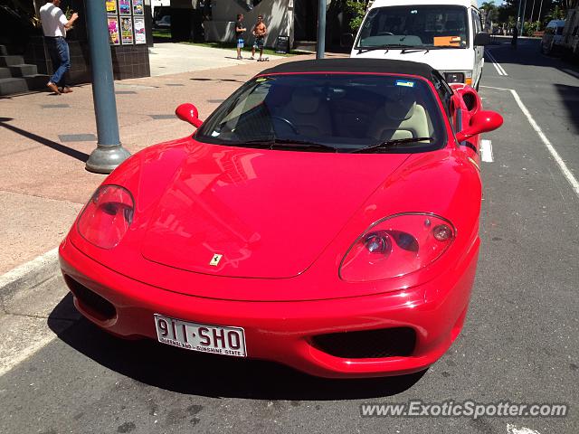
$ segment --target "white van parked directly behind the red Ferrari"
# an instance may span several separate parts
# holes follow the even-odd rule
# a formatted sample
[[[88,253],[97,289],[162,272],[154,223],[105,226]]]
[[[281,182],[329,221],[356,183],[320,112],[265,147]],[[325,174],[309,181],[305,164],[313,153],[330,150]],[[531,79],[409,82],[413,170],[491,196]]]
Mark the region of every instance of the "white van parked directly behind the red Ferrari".
[[[478,89],[489,42],[476,0],[375,0],[350,57],[420,61]]]

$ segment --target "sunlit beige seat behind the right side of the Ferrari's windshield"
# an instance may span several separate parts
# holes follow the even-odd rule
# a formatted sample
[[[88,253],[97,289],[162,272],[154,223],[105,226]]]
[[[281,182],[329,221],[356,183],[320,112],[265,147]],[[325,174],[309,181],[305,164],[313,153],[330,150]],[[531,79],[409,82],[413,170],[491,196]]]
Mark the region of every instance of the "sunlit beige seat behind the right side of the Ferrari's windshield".
[[[413,92],[386,99],[368,127],[368,137],[376,140],[431,137],[432,123],[424,108],[416,103]]]

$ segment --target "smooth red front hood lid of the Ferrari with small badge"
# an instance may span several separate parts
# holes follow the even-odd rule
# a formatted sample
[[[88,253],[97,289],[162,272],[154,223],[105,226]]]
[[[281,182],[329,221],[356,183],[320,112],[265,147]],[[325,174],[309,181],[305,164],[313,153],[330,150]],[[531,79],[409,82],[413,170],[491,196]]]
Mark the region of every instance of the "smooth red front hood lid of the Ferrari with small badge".
[[[407,157],[199,146],[151,213],[142,255],[218,276],[297,276]]]

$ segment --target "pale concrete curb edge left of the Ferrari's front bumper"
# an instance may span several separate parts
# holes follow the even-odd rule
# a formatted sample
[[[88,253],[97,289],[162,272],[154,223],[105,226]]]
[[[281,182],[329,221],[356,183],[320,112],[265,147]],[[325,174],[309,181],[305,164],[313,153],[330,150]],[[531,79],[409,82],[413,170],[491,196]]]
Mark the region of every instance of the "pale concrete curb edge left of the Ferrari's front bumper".
[[[21,289],[33,288],[59,272],[58,248],[55,248],[0,276],[0,300]]]

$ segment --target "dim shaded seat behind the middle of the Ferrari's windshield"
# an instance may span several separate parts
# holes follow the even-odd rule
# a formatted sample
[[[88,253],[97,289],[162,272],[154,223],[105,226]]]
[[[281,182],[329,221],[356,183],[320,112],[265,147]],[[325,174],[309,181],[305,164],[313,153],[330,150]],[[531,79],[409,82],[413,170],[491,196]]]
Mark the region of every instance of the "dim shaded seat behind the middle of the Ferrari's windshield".
[[[294,90],[289,104],[281,109],[279,116],[288,119],[301,135],[319,137],[332,134],[326,101],[308,88]]]

